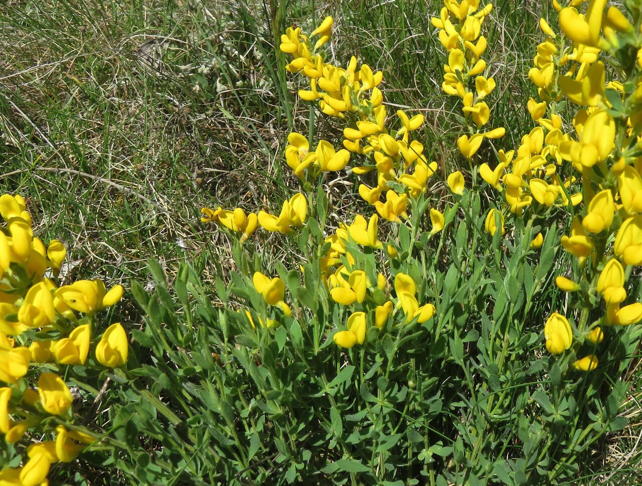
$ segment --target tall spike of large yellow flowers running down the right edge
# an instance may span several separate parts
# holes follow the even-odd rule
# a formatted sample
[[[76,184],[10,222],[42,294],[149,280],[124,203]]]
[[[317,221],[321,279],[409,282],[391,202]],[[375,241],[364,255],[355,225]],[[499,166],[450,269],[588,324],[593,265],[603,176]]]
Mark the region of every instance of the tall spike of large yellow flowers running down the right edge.
[[[631,267],[642,265],[642,127],[637,122],[641,42],[623,13],[611,6],[605,14],[605,5],[605,0],[592,0],[585,15],[574,6],[558,8],[560,29],[573,41],[573,53],[562,50],[562,60],[580,63],[559,78],[559,95],[580,108],[573,118],[577,139],[565,135],[558,148],[560,157],[579,173],[586,205],[560,241],[577,260],[578,272],[575,279],[556,279],[562,291],[573,293],[582,312],[575,332],[558,313],[548,319],[546,348],[553,354],[567,349],[577,354],[584,342],[595,350],[605,326],[642,320],[642,303],[626,303]],[[638,62],[632,60],[623,72],[634,80],[629,89],[618,80],[606,83],[598,58],[615,53],[623,58],[631,52],[638,52]],[[558,64],[563,65],[561,60]],[[600,305],[605,311],[591,322],[591,311]],[[574,367],[592,370],[597,364],[598,357],[590,354]]]

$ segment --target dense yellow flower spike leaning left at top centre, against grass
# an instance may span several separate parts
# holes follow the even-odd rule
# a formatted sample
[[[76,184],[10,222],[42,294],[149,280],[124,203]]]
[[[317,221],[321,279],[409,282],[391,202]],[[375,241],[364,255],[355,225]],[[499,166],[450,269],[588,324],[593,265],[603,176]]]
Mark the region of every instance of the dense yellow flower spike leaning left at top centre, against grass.
[[[309,89],[300,90],[300,98],[317,101],[324,114],[347,123],[343,148],[336,150],[329,141],[321,140],[311,150],[310,141],[293,132],[288,136],[286,161],[302,182],[314,180],[322,171],[340,171],[351,160],[354,174],[376,171],[376,177],[368,175],[359,184],[359,195],[381,218],[399,222],[400,217],[408,217],[408,197],[418,198],[424,193],[437,170],[437,162],[426,161],[423,144],[412,138],[412,132],[424,123],[424,116],[410,117],[397,110],[397,128],[393,128],[379,89],[383,72],[374,72],[367,64],[359,67],[354,56],[344,69],[317,51],[329,40],[332,25],[332,17],[327,17],[310,37],[300,28],[289,28],[281,37],[281,50],[293,56],[288,71],[308,78]],[[323,42],[312,46],[311,37],[315,35],[322,35]],[[399,185],[396,190],[391,183]]]

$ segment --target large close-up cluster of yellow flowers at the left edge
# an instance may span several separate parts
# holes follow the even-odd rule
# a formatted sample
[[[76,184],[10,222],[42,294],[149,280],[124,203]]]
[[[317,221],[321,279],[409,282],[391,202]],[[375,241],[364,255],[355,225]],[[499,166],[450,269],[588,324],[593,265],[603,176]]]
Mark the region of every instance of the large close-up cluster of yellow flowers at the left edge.
[[[96,313],[116,304],[123,288],[107,291],[100,280],[56,286],[64,245],[55,239],[45,245],[33,236],[21,196],[0,196],[0,216],[0,382],[7,385],[0,388],[0,433],[10,444],[27,434],[55,434],[54,440],[28,446],[22,467],[0,471],[0,483],[40,485],[47,483],[53,462],[73,460],[96,438],[67,430],[63,423],[52,426],[52,416],[73,422],[73,397],[58,374],[39,372],[44,370],[39,364],[51,363],[46,369],[59,372],[65,365],[125,365],[128,339],[121,324],[110,325],[98,342],[92,340]],[[39,374],[37,386],[30,367]]]

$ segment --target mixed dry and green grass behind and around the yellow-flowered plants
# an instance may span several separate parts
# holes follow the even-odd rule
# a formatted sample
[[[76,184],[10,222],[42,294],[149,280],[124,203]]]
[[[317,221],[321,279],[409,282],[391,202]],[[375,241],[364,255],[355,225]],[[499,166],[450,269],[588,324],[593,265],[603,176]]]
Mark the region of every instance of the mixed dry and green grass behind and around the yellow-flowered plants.
[[[311,26],[311,19],[333,15],[334,60],[346,64],[354,53],[383,69],[386,101],[421,110],[424,146],[444,179],[456,168],[453,141],[463,128],[458,108],[440,88],[444,54],[430,23],[439,8],[436,1],[417,0],[10,0],[0,6],[4,191],[27,198],[40,239],[65,243],[67,281],[101,277],[108,286],[130,288],[132,280],[155,286],[160,276],[146,270],[148,259],[155,259],[171,284],[180,280],[178,264],[187,259],[203,281],[229,282],[236,271],[230,241],[198,221],[200,208],[274,212],[297,187],[283,171],[284,144],[291,130],[307,133],[311,111],[294,96],[299,80],[283,69],[274,45],[278,34],[292,22]],[[487,19],[485,57],[498,85],[491,123],[507,127],[495,150],[519,144],[523,133],[508,128],[534,126],[525,110],[535,93],[526,73],[540,39],[537,21],[551,10],[543,9],[535,1],[503,0]],[[317,114],[315,121],[317,137],[336,129],[326,117]],[[493,157],[488,150],[480,159]],[[326,182],[335,207],[354,211],[351,177]],[[336,225],[340,213],[331,219]],[[292,268],[298,261],[301,250],[281,241],[262,234],[252,243],[264,265]],[[537,317],[560,300],[554,286],[542,292]],[[129,302],[109,318],[139,328],[139,309]],[[166,375],[171,378],[171,370]],[[635,386],[622,410],[629,428],[595,447],[590,483],[641,478],[638,369],[632,376]],[[110,393],[107,403],[117,397]],[[174,412],[189,415],[187,408]],[[103,414],[103,421],[108,426],[114,417]],[[78,474],[92,483],[87,471]],[[107,484],[108,474],[95,483]]]

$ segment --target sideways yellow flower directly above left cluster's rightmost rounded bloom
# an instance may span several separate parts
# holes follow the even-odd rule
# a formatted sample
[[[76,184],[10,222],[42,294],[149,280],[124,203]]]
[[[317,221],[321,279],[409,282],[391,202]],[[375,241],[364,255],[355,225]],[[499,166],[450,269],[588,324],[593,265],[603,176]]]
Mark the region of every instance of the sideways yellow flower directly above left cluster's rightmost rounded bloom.
[[[58,288],[55,295],[75,311],[93,314],[116,304],[123,297],[123,286],[115,285],[107,291],[101,280],[78,280]]]

